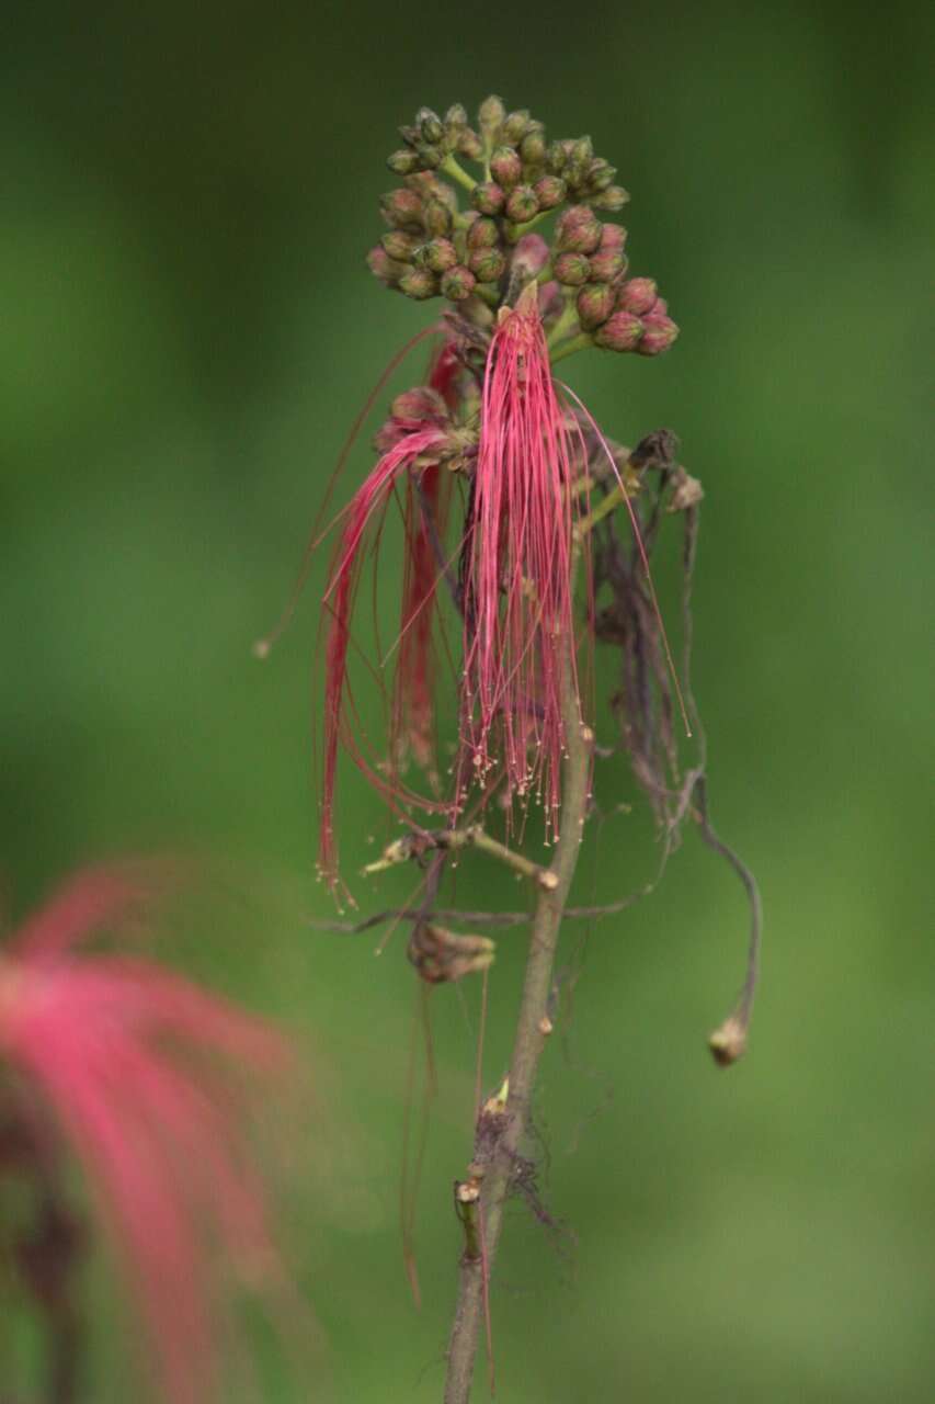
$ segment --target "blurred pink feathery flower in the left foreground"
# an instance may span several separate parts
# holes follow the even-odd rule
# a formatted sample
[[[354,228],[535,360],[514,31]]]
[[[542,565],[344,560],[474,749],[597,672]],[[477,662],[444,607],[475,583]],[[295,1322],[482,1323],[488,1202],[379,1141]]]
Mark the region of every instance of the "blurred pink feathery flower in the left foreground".
[[[83,942],[139,907],[129,870],[90,870],[0,955],[0,1059],[58,1120],[124,1261],[173,1404],[216,1384],[213,1262],[278,1272],[230,1074],[281,1071],[260,1021],[156,963]]]

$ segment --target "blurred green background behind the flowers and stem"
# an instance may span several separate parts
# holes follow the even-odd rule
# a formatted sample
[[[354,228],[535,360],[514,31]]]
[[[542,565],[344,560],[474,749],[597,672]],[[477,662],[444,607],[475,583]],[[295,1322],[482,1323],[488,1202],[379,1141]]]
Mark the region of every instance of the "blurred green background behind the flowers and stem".
[[[677,428],[705,483],[713,813],[767,908],[751,1052],[726,1074],[703,1039],[747,918],[696,837],[651,901],[590,932],[536,1113],[566,1233],[510,1216],[498,1397],[931,1400],[931,7],[14,3],[4,28],[0,862],[17,910],[110,854],[192,848],[256,875],[248,939],[215,931],[191,967],[310,1031],[329,1090],[289,1210],[327,1363],[267,1397],[441,1397],[477,991],[431,1001],[417,1314],[404,938],[375,959],[372,935],[306,921],[329,913],[320,567],[271,660],[250,644],[354,413],[430,316],[364,265],[394,128],[494,90],[619,166],[635,271],[682,327],[658,362],[591,352],[567,376],[623,441]],[[369,462],[364,441],[347,490]],[[633,797],[616,775],[605,799]],[[385,826],[352,776],[341,823],[354,866]],[[639,885],[646,806],[587,862],[585,894]],[[407,886],[355,890],[366,910]],[[517,904],[479,863],[458,896]],[[491,1084],[521,948],[504,935],[491,981]],[[101,1355],[88,1398],[126,1397],[108,1375]]]

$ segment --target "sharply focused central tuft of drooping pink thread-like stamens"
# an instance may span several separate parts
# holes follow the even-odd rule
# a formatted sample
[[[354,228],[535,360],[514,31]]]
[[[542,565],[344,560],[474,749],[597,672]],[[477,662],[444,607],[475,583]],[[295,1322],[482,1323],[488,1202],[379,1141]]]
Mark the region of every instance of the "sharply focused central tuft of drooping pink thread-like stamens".
[[[501,309],[484,372],[465,543],[462,743],[477,782],[489,785],[500,764],[511,795],[542,799],[548,827],[557,823],[562,691],[574,670],[571,479],[531,284],[515,309]]]

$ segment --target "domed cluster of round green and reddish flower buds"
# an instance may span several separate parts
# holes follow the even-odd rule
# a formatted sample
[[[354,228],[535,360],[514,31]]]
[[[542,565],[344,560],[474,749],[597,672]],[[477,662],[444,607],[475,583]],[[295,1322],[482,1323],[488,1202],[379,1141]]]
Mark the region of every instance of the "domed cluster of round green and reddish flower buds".
[[[497,97],[482,102],[477,129],[458,104],[444,118],[421,108],[400,132],[406,146],[389,166],[406,184],[383,197],[389,230],[368,256],[386,286],[417,300],[446,298],[462,316],[490,324],[511,300],[531,230],[555,213],[550,247],[536,241],[535,277],[555,293],[546,299],[546,330],[560,320],[569,337],[611,351],[668,350],[678,327],[665,302],[651,279],[626,281],[626,229],[598,218],[629,197],[590,136],[549,143],[542,122],[525,110],[507,112]],[[459,157],[480,173],[469,174]],[[463,211],[455,185],[468,192]]]

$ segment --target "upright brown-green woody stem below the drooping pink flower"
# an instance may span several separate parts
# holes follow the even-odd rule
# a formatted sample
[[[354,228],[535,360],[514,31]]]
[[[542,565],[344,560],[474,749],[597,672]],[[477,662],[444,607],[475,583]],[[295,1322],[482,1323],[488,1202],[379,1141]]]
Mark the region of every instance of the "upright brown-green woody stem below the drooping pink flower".
[[[573,569],[578,555],[573,546]],[[526,973],[517,1018],[510,1064],[508,1094],[501,1129],[490,1134],[490,1119],[483,1112],[475,1139],[470,1174],[480,1181],[483,1223],[483,1258],[465,1252],[459,1265],[458,1304],[448,1345],[445,1404],[468,1404],[475,1372],[477,1339],[484,1318],[487,1282],[493,1269],[503,1227],[503,1213],[517,1163],[517,1154],[529,1119],[532,1092],[548,1031],[552,967],[559,941],[562,914],[578,862],[581,830],[588,802],[592,734],[583,726],[574,681],[573,644],[569,643],[562,685],[562,710],[567,751],[562,764],[562,831],[555,858],[548,869],[555,886],[539,886],[529,934]],[[483,1123],[483,1125],[482,1125]]]

